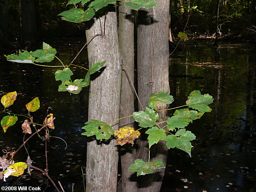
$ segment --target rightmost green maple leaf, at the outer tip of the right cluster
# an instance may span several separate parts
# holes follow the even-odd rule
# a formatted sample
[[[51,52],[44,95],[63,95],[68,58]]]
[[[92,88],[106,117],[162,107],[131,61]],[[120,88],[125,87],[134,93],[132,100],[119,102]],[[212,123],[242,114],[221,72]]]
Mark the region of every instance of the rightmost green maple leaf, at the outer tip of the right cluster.
[[[186,105],[198,111],[210,112],[212,111],[212,109],[209,108],[208,105],[212,102],[212,96],[210,96],[209,94],[201,95],[201,92],[199,90],[194,90],[189,94]]]

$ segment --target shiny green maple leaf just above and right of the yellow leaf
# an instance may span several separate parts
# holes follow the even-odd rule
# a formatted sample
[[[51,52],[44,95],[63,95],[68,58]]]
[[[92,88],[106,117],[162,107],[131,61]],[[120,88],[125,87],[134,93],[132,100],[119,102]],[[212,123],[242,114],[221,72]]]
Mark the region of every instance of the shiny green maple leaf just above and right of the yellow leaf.
[[[147,107],[145,111],[134,112],[133,117],[136,122],[140,122],[140,127],[153,127],[159,119],[158,113]]]

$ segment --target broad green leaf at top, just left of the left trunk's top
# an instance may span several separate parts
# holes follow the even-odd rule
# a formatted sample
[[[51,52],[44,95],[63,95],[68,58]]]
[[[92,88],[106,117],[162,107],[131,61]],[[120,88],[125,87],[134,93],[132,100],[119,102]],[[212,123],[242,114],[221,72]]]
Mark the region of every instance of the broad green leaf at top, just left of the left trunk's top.
[[[63,20],[73,23],[81,23],[93,18],[95,12],[92,8],[87,9],[85,12],[83,9],[73,8],[71,10],[62,12],[59,15],[63,16],[61,17]]]

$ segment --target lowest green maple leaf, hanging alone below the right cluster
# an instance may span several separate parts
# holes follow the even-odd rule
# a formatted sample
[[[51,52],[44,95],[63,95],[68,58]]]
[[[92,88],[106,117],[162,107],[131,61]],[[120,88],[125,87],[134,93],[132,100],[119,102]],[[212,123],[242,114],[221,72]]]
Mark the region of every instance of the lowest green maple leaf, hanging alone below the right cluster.
[[[164,164],[161,159],[155,160],[152,162],[144,162],[141,159],[137,159],[134,161],[134,164],[132,164],[129,167],[129,171],[137,172],[137,176],[140,176],[140,175],[153,173],[154,169],[160,169],[163,167],[164,167]]]

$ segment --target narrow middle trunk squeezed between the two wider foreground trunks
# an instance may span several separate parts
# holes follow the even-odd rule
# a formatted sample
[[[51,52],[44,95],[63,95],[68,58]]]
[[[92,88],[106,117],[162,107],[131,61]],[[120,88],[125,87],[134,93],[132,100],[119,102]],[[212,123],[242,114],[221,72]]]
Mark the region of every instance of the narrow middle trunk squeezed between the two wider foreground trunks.
[[[128,0],[129,1],[129,0]],[[124,2],[119,2],[119,46],[122,54],[122,84],[120,118],[130,116],[134,113],[134,15],[133,11],[124,6]],[[119,120],[120,128],[133,127],[133,117]],[[126,144],[120,147],[122,166],[122,192],[136,192],[137,182],[131,181],[134,172],[129,172],[128,168],[135,160],[135,146]]]

